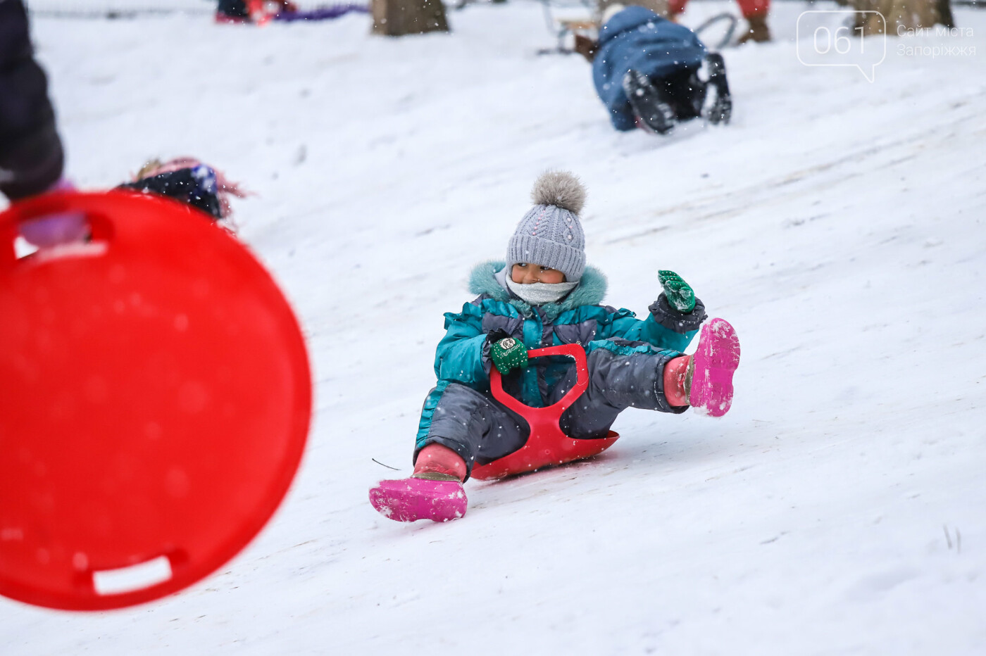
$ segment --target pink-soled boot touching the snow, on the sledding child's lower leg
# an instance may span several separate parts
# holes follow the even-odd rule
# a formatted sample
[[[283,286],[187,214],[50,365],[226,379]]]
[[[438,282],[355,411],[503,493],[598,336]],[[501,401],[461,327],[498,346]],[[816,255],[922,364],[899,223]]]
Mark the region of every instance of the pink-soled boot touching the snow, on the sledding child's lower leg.
[[[431,519],[447,522],[465,515],[465,491],[458,481],[401,479],[381,481],[370,489],[370,502],[380,514],[398,522]]]

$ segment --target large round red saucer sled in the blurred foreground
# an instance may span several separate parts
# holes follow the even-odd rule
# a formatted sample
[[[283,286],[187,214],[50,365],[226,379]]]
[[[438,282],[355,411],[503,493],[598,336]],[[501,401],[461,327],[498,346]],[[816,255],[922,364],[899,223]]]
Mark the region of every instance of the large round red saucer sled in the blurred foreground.
[[[15,254],[18,225],[81,212],[87,242]],[[236,555],[308,434],[287,301],[197,210],[131,192],[0,214],[0,594],[131,606]]]

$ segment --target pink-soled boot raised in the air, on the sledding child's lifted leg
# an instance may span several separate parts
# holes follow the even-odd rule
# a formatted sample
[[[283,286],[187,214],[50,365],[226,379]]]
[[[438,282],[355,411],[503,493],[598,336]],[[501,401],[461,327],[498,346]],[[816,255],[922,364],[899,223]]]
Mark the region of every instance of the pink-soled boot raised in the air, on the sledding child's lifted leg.
[[[733,373],[740,366],[740,340],[726,319],[702,326],[698,351],[691,357],[688,403],[700,415],[722,417],[733,405]]]

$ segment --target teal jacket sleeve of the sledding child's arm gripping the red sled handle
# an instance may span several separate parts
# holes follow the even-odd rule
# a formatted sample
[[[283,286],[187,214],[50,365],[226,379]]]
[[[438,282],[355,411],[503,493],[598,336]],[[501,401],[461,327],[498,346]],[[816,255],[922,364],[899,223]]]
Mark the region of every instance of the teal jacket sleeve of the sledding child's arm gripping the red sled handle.
[[[460,313],[447,312],[445,329],[435,351],[435,375],[439,380],[456,380],[476,389],[488,387],[486,335],[479,308],[465,303]]]

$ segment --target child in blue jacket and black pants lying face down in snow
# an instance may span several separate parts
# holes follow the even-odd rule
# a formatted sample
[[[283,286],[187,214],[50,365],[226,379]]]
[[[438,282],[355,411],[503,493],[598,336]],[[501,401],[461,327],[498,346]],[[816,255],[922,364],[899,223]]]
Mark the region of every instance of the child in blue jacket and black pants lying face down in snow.
[[[599,41],[577,36],[575,49],[593,64],[593,82],[617,130],[669,133],[702,117],[729,123],[733,100],[726,64],[691,30],[649,9],[611,5]],[[699,71],[707,71],[703,79]]]

